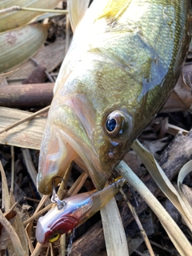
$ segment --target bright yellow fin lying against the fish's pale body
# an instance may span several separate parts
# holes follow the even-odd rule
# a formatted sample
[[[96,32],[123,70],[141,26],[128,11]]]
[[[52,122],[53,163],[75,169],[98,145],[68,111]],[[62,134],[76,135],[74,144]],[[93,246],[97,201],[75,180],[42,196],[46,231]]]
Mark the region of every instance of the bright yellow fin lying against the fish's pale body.
[[[106,6],[98,18],[112,18],[115,20],[124,13],[130,2],[131,0],[107,0]]]

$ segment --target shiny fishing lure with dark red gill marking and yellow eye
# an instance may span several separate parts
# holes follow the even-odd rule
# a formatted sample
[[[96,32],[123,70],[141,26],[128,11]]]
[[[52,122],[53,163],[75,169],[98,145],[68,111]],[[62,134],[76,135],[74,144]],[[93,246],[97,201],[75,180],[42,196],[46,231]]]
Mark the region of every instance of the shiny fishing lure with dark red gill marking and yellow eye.
[[[124,178],[116,178],[103,190],[92,190],[64,199],[62,208],[55,206],[38,219],[35,231],[37,241],[41,244],[56,242],[62,234],[82,225],[105,206],[125,183]]]

